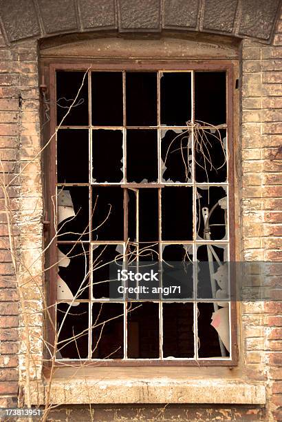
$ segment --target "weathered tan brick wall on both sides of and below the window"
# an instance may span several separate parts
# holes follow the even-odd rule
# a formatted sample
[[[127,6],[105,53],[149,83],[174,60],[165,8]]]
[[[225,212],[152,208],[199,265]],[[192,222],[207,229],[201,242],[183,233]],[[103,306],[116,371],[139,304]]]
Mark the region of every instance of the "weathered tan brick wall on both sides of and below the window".
[[[241,137],[236,154],[241,181],[242,257],[248,261],[281,261],[282,237],[282,21],[271,46],[244,40],[241,46]],[[0,154],[9,188],[15,251],[21,260],[16,277],[9,249],[8,225],[0,190],[0,406],[22,400],[25,380],[23,311],[28,309],[32,379],[41,379],[42,308],[42,188],[39,130],[37,41],[18,41],[7,47],[0,35]],[[279,152],[280,151],[280,152]],[[25,168],[28,160],[32,163]],[[19,173],[21,173],[19,175]],[[16,177],[17,176],[17,177]],[[1,176],[3,177],[3,176]],[[32,266],[32,277],[26,267]],[[17,283],[23,285],[19,301]],[[25,284],[27,283],[27,284]],[[281,274],[270,278],[273,286]],[[278,302],[246,303],[241,309],[240,359],[252,381],[264,380],[268,404],[254,406],[124,405],[94,406],[94,420],[252,420],[282,419],[282,306]],[[19,389],[19,385],[21,388]],[[18,394],[19,392],[19,394]],[[164,410],[163,410],[164,409]],[[51,417],[51,416],[50,416]],[[89,420],[81,407],[53,411],[58,421]]]

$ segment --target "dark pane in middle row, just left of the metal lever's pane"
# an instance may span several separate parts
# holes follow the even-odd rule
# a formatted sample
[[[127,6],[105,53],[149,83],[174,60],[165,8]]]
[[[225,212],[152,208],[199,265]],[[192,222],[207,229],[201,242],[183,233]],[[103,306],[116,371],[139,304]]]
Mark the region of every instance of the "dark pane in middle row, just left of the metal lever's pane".
[[[162,240],[193,239],[193,188],[162,189]]]

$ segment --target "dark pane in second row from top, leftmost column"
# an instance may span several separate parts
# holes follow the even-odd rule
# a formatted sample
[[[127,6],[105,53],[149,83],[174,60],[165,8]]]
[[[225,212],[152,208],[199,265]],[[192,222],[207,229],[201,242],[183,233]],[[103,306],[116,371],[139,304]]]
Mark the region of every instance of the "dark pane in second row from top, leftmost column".
[[[89,141],[87,129],[63,129],[57,134],[58,183],[88,183]]]

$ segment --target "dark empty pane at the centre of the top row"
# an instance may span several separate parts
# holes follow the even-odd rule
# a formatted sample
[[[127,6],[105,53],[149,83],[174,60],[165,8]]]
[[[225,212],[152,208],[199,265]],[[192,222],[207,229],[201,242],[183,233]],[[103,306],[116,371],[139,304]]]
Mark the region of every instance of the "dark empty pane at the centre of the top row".
[[[157,72],[127,72],[127,126],[157,125]]]

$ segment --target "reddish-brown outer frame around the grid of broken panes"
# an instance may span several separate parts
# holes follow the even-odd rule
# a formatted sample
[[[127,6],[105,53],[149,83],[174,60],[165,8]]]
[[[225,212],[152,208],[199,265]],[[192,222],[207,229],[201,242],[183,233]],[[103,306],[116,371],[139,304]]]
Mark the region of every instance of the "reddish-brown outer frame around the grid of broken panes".
[[[224,60],[202,60],[202,61],[193,61],[193,60],[131,60],[131,59],[122,59],[122,60],[96,60],[96,61],[77,61],[77,60],[67,60],[57,62],[51,60],[47,63],[44,63],[43,74],[44,74],[44,83],[43,89],[47,88],[50,99],[50,122],[45,125],[43,137],[45,142],[50,140],[52,134],[56,131],[56,107],[54,106],[56,101],[56,70],[80,70],[86,71],[88,68],[92,70],[144,70],[144,71],[157,71],[157,70],[199,70],[199,71],[226,71],[227,83],[226,83],[226,94],[227,94],[227,121],[226,126],[228,128],[228,154],[229,154],[229,166],[228,166],[228,184],[229,184],[229,197],[228,197],[228,207],[229,207],[229,245],[230,245],[230,261],[235,261],[235,191],[234,191],[234,154],[233,154],[233,97],[235,92],[234,77],[233,77],[233,63],[232,61]],[[46,86],[45,86],[46,82]],[[46,87],[46,88],[45,88]],[[54,239],[55,236],[55,226],[54,221],[56,221],[56,216],[54,215],[54,206],[51,201],[51,197],[55,195],[56,192],[56,163],[54,159],[50,157],[56,157],[56,142],[55,137],[52,138],[52,141],[48,143],[45,148],[45,154],[43,157],[44,160],[44,169],[45,169],[45,221],[47,221],[47,228],[45,232],[45,242],[48,243],[50,239]],[[50,223],[48,223],[50,222]],[[46,281],[47,281],[47,305],[50,313],[50,318],[52,322],[47,322],[46,324],[46,339],[49,345],[54,345],[54,326],[56,322],[56,312],[54,308],[54,303],[56,302],[56,274],[57,269],[56,265],[52,266],[52,263],[56,262],[56,243],[53,241],[50,249],[46,254]],[[51,264],[51,265],[50,265]],[[232,283],[232,288],[234,288],[234,283]],[[234,301],[230,302],[230,315],[231,321],[236,321],[236,323],[231,324],[231,341],[230,341],[230,358],[228,359],[173,359],[173,360],[160,360],[160,359],[113,359],[110,360],[85,360],[81,361],[65,359],[64,362],[56,362],[57,366],[81,366],[82,362],[85,365],[99,365],[99,366],[234,366],[237,365],[237,319],[236,319],[236,303]],[[47,361],[47,366],[51,365],[50,354],[49,357],[47,352],[45,352],[45,358]]]

